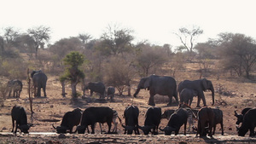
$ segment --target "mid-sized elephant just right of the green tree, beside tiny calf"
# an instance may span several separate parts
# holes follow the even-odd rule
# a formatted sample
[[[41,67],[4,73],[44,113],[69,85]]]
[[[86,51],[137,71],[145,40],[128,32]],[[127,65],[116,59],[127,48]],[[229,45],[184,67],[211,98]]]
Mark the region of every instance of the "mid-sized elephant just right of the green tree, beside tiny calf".
[[[100,99],[104,98],[105,85],[102,82],[96,82],[96,83],[90,82],[84,87],[84,91],[85,89],[90,89],[90,96],[93,94],[93,92],[96,92],[100,94]]]

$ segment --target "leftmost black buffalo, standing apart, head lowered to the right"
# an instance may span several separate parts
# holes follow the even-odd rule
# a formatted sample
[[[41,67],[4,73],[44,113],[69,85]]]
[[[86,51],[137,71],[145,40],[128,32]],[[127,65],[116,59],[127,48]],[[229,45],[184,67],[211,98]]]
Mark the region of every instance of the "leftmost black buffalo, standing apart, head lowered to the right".
[[[11,111],[12,122],[13,122],[13,129],[12,132],[17,132],[17,128],[20,129],[21,132],[28,133],[29,128],[32,124],[27,124],[26,112],[24,107],[14,106]],[[15,128],[15,121],[16,121],[16,128]]]

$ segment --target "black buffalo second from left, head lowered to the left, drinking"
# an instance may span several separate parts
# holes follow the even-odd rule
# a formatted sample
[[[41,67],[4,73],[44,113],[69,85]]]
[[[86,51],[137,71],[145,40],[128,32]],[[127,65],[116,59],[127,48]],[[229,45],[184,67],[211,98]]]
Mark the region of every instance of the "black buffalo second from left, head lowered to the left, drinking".
[[[74,109],[72,112],[66,112],[62,118],[61,126],[55,128],[54,124],[52,124],[53,128],[57,130],[58,134],[67,133],[67,130],[72,134],[73,126],[79,125],[80,123],[81,112],[82,110],[79,108]]]

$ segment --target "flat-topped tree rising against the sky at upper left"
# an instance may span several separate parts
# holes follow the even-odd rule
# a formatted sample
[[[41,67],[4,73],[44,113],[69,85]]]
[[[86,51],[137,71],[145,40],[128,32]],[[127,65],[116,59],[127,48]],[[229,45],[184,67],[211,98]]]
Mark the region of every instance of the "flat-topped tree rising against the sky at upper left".
[[[30,37],[33,38],[37,58],[39,46],[44,49],[44,43],[47,43],[49,41],[50,28],[46,26],[38,26],[28,29],[27,33]]]

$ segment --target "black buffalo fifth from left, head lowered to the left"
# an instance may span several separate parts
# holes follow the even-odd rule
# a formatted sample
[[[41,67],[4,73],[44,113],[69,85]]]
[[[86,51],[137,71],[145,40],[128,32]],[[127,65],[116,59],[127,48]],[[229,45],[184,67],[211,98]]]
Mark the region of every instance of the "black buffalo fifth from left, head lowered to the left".
[[[145,115],[144,126],[139,126],[139,129],[143,130],[144,135],[148,135],[151,131],[153,135],[158,134],[158,127],[161,120],[161,108],[149,107]]]

